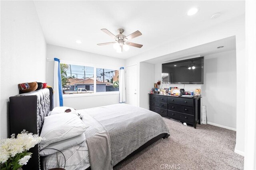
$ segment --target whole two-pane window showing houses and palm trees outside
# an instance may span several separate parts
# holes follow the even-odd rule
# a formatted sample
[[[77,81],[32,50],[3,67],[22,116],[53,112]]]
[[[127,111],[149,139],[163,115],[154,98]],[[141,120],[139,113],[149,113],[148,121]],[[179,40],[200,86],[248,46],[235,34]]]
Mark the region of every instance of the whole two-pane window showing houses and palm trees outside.
[[[65,95],[119,91],[119,70],[60,63],[60,71]]]

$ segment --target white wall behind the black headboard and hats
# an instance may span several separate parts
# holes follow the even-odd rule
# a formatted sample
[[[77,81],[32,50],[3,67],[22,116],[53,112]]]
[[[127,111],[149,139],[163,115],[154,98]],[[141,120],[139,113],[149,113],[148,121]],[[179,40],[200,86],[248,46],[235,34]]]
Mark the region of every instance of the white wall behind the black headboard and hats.
[[[1,138],[7,102],[22,82],[45,82],[46,43],[33,1],[1,1]]]

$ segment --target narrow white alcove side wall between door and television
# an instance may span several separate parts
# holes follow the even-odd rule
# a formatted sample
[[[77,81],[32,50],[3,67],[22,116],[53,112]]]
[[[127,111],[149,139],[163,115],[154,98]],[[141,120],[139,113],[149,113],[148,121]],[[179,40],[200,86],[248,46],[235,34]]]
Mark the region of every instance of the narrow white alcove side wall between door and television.
[[[140,62],[139,65],[139,107],[149,109],[149,93],[154,88],[155,64]]]

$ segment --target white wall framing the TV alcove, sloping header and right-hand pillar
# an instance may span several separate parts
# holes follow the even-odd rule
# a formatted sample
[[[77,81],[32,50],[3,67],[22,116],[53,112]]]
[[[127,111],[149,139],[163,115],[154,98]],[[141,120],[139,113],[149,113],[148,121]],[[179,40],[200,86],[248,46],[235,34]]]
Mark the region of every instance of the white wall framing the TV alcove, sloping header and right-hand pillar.
[[[190,36],[180,37],[162,44],[152,50],[126,60],[126,65],[137,64],[155,57],[160,57],[198,45],[217,41],[227,37],[236,36],[236,152],[244,152],[244,107],[245,94],[239,93],[239,89],[245,86],[245,16],[239,16],[216,26],[198,31]]]

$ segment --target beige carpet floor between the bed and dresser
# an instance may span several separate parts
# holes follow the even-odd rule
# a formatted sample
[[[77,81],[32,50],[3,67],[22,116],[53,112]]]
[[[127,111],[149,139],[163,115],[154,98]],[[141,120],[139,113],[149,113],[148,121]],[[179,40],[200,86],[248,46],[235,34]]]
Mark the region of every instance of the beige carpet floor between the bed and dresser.
[[[244,157],[234,153],[236,132],[212,126],[197,129],[164,118],[170,131],[114,170],[242,170]]]

